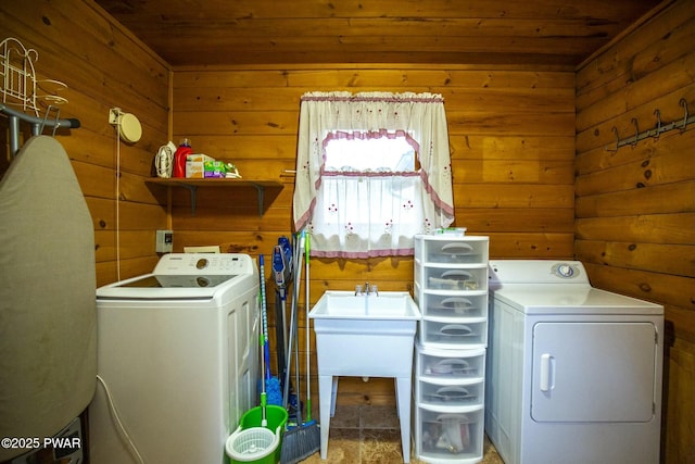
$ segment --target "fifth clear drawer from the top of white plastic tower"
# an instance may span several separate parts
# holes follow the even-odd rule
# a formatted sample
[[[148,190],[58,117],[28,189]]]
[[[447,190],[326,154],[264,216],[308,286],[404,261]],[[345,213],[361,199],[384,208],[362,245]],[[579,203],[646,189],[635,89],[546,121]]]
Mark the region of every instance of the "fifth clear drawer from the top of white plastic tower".
[[[485,349],[439,350],[416,348],[418,380],[482,381],[485,377]]]

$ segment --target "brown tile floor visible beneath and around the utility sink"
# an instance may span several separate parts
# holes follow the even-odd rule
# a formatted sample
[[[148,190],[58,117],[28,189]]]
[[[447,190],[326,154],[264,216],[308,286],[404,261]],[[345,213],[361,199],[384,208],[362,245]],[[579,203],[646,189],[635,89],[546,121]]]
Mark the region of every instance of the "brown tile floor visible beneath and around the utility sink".
[[[318,417],[318,414],[315,417]],[[302,462],[306,464],[403,463],[401,428],[395,407],[338,406],[330,422],[328,459],[321,461],[319,453],[315,453]],[[421,464],[422,461],[416,459],[412,452],[410,463]],[[488,439],[483,446],[482,463],[504,464]]]

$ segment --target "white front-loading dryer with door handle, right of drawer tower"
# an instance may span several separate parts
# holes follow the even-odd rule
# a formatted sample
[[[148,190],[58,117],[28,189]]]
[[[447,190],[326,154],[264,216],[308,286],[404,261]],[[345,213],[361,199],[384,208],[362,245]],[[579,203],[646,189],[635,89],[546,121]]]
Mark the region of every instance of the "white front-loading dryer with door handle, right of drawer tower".
[[[506,464],[658,463],[664,308],[578,261],[490,261],[485,431]]]

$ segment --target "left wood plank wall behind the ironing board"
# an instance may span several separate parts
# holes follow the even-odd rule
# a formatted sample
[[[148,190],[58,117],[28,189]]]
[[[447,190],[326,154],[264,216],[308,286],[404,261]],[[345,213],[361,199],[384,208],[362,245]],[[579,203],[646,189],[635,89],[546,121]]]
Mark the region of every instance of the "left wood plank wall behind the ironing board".
[[[61,106],[61,117],[76,117],[81,127],[61,130],[56,137],[72,160],[93,217],[97,284],[117,279],[116,212],[122,277],[150,272],[157,260],[154,231],[166,227],[167,216],[165,199],[156,198],[143,179],[150,176],[156,149],[167,139],[167,64],[90,0],[0,2],[0,40],[15,37],[36,49],[40,77],[68,87],[61,93],[68,100]],[[108,122],[111,108],[135,114],[142,125],[138,143],[119,143],[118,208],[116,131]],[[5,117],[0,116],[0,128],[5,145]],[[25,138],[30,136],[28,126],[22,129]],[[0,175],[9,163],[8,147],[0,156]]]

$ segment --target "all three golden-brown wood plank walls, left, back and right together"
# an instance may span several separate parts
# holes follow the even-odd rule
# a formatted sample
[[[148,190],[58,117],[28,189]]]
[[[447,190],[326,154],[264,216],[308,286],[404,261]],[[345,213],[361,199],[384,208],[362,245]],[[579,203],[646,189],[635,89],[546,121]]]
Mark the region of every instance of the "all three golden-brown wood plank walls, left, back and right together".
[[[632,117],[642,129],[654,125],[656,108],[665,122],[681,117],[682,97],[695,113],[693,8],[678,0],[577,75],[466,65],[175,70],[173,126],[168,66],[90,0],[0,2],[0,28],[2,38],[16,37],[37,49],[42,77],[68,86],[70,103],[61,117],[79,118],[81,128],[58,137],[94,220],[99,285],[114,281],[117,269],[110,108],[132,112],[143,125],[140,142],[121,145],[118,254],[125,278],[152,268],[159,228],[173,226],[177,251],[214,243],[252,255],[267,255],[279,235],[291,233],[293,178],[282,172],[294,168],[304,91],[441,92],[448,115],[456,225],[490,236],[493,258],[576,255],[586,263],[594,285],[666,305],[671,338],[665,462],[693,463],[695,131],[665,134],[616,153],[605,150],[614,141],[614,125],[624,137],[633,130]],[[7,143],[3,117],[0,127]],[[197,151],[237,163],[245,178],[282,181],[282,189],[267,193],[265,214],[258,216],[253,190],[203,189],[195,216],[186,192],[173,191],[169,217],[162,206],[166,190],[150,189],[144,179],[156,149],[169,137],[184,136],[192,138]],[[0,158],[1,175],[9,160]],[[410,259],[313,260],[311,300],[326,289],[365,280],[386,290],[409,290],[412,274]],[[392,404],[392,386],[343,381],[341,401]]]

